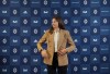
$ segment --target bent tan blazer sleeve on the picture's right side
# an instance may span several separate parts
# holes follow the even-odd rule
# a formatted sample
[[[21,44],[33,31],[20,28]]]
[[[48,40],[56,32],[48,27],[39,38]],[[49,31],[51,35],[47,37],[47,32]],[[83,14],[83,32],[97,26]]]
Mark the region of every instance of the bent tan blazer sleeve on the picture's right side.
[[[67,52],[72,52],[76,48],[76,46],[68,30],[67,30],[67,44],[69,45],[69,47],[66,48]]]

